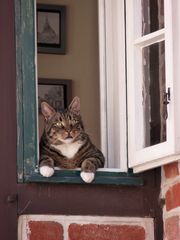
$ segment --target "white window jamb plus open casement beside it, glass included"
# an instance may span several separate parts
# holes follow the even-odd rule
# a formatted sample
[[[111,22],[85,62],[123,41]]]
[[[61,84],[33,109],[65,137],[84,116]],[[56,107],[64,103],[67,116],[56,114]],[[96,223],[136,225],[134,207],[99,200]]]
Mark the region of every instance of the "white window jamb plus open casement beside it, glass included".
[[[99,3],[106,16],[100,28],[100,69],[107,158],[115,159],[121,171],[128,162],[134,172],[175,161],[180,152],[173,65],[179,61],[179,5],[169,0]]]

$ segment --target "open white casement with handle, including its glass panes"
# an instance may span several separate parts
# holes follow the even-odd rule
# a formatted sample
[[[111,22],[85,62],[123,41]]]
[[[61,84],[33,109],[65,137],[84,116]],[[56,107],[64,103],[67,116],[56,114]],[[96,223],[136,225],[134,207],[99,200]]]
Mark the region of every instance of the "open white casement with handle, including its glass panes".
[[[174,3],[173,3],[174,4]],[[174,104],[172,1],[127,1],[129,166],[142,171],[173,161],[177,147]],[[167,158],[167,156],[169,156]],[[171,157],[170,157],[171,156]]]

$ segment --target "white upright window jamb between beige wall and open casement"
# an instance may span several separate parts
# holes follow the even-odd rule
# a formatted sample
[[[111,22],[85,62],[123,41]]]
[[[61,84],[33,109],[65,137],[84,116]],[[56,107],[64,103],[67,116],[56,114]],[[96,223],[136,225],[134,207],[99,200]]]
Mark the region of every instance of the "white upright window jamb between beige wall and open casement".
[[[124,1],[99,0],[98,9],[101,146],[107,159],[106,170],[126,172]]]

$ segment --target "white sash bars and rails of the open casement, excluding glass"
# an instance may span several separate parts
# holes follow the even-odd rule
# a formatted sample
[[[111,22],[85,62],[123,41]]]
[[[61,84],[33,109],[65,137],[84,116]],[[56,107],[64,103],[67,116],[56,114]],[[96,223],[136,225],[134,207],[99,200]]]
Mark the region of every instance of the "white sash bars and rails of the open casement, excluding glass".
[[[134,39],[133,19],[134,19],[134,7],[136,1],[127,1],[127,72],[128,72],[128,143],[129,143],[129,166],[133,167],[135,172],[143,171],[153,167],[157,167],[167,162],[176,159],[173,154],[178,154],[175,148],[175,131],[174,131],[174,97],[173,97],[173,29],[172,29],[172,2],[170,0],[164,1],[165,4],[165,29],[148,34],[147,36],[137,37]],[[134,20],[135,21],[135,20]],[[135,21],[136,22],[136,21]],[[134,24],[135,25],[135,24]],[[138,34],[137,34],[138,36]],[[137,124],[135,123],[135,109],[134,89],[138,78],[141,78],[141,61],[136,59],[135,55],[138,51],[135,49],[141,49],[142,47],[149,46],[152,43],[160,42],[165,39],[165,63],[166,63],[166,89],[171,89],[171,102],[168,105],[168,120],[167,120],[167,141],[136,150],[135,144],[138,141],[135,136],[135,130]],[[140,54],[140,53],[139,53]],[[142,126],[139,125],[139,128]],[[142,137],[142,136],[140,136]]]

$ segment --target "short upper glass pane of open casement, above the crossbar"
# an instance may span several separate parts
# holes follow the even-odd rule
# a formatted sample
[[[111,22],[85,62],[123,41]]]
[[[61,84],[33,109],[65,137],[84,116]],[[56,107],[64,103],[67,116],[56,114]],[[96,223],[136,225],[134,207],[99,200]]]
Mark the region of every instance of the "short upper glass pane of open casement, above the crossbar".
[[[164,28],[164,0],[141,0],[142,36]]]

